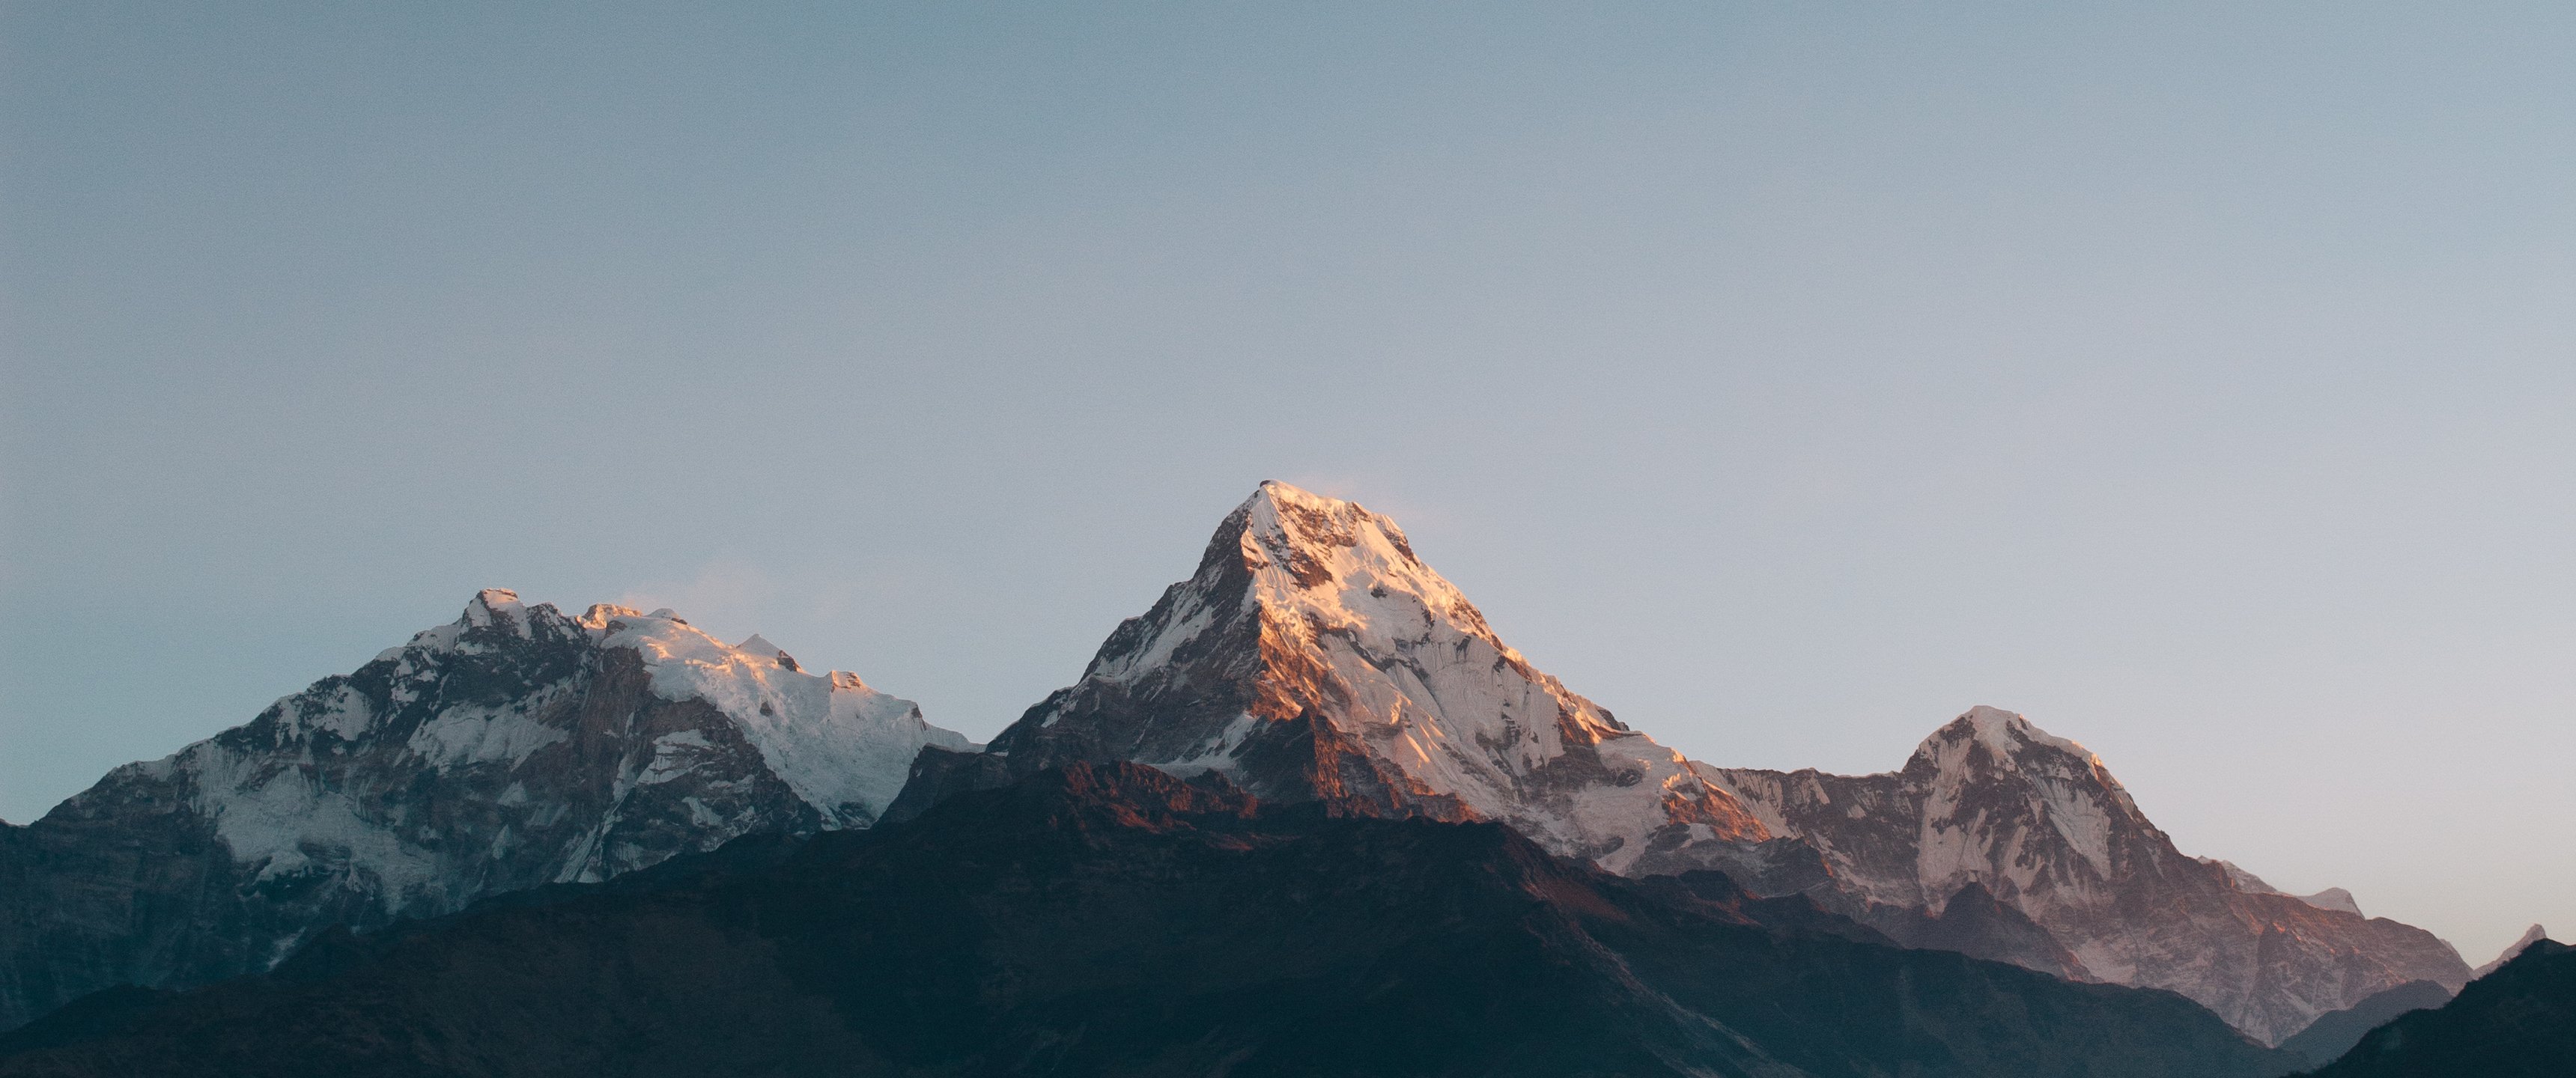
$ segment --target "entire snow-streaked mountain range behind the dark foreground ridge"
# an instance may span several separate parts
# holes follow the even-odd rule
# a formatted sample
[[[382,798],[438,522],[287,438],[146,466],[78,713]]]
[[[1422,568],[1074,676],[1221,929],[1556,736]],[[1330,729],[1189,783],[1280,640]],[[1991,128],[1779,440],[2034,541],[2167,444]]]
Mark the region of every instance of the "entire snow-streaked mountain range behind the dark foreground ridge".
[[[1883,774],[1685,759],[1507,646],[1394,520],[1270,481],[989,751],[760,635],[482,592],[0,828],[0,1024],[260,973],[330,926],[899,823],[1087,764],[1334,818],[1502,823],[1633,880],[1721,872],[1870,939],[2169,988],[2264,1045],[2470,978],[2347,893],[2184,857],[2102,759],[2007,710],[1958,715]]]

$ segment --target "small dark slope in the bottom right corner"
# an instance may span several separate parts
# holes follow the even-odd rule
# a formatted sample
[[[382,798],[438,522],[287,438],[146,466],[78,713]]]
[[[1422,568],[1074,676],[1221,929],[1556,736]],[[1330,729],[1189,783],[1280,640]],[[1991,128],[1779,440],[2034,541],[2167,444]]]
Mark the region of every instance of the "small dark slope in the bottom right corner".
[[[2532,942],[2434,1011],[2372,1029],[2313,1078],[2576,1075],[2576,947]]]

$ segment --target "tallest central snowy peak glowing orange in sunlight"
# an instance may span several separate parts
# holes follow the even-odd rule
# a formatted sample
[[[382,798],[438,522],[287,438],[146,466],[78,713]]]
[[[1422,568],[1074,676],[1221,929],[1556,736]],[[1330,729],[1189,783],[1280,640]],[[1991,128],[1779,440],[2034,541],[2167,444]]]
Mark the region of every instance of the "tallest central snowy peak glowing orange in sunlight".
[[[1504,646],[1391,520],[1285,484],[994,751],[1012,774],[1139,762],[1347,813],[1504,821],[1613,870],[1659,831],[1767,839],[1680,754]]]

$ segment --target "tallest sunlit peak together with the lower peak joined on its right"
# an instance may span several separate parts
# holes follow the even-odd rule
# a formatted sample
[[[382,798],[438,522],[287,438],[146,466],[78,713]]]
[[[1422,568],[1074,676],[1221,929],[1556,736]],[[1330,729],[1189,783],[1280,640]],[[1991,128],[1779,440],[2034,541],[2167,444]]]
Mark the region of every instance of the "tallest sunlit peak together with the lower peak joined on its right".
[[[1502,821],[1613,872],[1721,870],[1914,947],[2172,988],[2264,1042],[2409,980],[2468,980],[2432,934],[2182,857],[2099,759],[2002,710],[1891,774],[1687,762],[1504,646],[1396,522],[1285,484],[992,751],[927,754],[917,782],[1123,759],[1340,813]]]

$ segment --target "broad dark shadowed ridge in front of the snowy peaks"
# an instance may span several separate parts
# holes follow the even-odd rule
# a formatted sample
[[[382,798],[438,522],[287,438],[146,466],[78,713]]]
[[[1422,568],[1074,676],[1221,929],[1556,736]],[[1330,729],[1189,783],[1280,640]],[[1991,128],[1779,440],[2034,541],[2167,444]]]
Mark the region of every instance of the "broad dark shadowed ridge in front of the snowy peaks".
[[[2280,1070],[2169,993],[1133,764],[332,934],[270,975],[0,1037],[8,1078]]]

